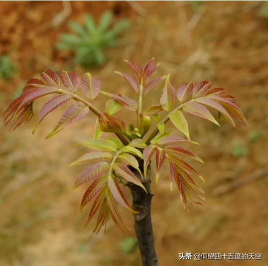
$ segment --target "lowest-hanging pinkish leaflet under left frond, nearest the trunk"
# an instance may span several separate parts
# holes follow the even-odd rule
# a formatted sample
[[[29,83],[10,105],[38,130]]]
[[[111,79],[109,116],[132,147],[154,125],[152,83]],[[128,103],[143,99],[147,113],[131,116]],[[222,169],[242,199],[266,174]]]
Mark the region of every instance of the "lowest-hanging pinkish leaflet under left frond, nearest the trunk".
[[[59,133],[62,131],[64,128],[66,128],[68,125],[71,125],[75,123],[76,121],[84,118],[89,112],[89,109],[87,106],[83,104],[76,104],[76,105],[71,105],[69,106],[63,115],[60,117],[58,120],[55,128],[51,133],[49,133],[46,138],[49,138],[56,133]]]

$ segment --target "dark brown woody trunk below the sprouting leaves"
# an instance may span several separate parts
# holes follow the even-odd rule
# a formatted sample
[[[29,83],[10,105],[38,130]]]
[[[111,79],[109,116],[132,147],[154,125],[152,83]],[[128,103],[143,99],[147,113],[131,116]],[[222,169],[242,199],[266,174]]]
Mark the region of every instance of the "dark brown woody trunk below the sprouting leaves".
[[[140,164],[143,166],[143,161]],[[139,173],[135,169],[132,168],[132,171],[140,178]],[[142,266],[158,266],[158,261],[154,250],[151,224],[151,199],[153,193],[150,190],[150,174],[150,166],[148,166],[146,180],[140,178],[140,181],[145,187],[147,193],[141,187],[133,183],[127,184],[133,197],[132,208],[138,212],[134,214],[134,229],[137,237]]]

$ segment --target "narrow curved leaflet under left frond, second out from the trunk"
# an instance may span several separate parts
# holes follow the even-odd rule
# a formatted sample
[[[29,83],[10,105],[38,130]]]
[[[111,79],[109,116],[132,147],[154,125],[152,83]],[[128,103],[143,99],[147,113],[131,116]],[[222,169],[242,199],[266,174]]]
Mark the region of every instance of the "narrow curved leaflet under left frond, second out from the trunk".
[[[35,127],[32,131],[32,133],[35,132],[37,126],[40,124],[40,122],[52,111],[54,111],[56,108],[60,107],[61,105],[65,104],[69,100],[71,100],[72,97],[70,95],[61,94],[58,96],[55,96],[54,98],[50,99],[48,102],[46,102],[41,111],[39,112],[39,115],[36,119]]]

